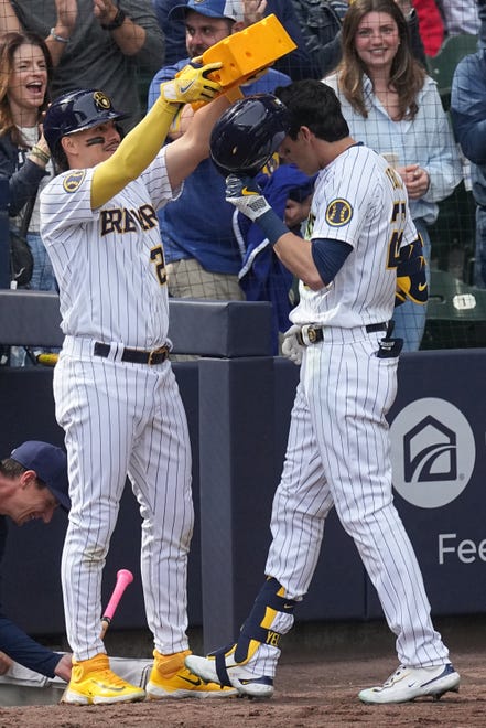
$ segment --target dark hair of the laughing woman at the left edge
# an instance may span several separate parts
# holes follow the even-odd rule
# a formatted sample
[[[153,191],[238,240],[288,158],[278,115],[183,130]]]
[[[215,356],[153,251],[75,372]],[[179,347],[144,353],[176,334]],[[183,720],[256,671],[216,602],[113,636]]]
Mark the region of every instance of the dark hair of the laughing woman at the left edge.
[[[41,49],[47,69],[47,92],[52,81],[53,65],[51,53],[43,39],[36,33],[6,33],[0,38],[0,136],[6,133],[11,135],[12,141],[18,147],[25,146],[25,140],[13,121],[12,111],[10,108],[8,90],[10,76],[13,68],[13,56],[17,49],[21,45],[36,45]],[[44,103],[39,107],[39,121],[42,119],[43,111],[48,106],[48,93],[45,94]]]

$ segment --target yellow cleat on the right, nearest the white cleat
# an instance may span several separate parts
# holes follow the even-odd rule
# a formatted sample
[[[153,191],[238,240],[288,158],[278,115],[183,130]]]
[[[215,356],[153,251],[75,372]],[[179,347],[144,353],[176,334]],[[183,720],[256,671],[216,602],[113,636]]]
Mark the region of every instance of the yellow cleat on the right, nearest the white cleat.
[[[145,687],[149,700],[230,697],[238,694],[233,687],[205,683],[197,675],[193,675],[184,665],[184,659],[190,654],[191,650],[172,655],[162,655],[158,650],[153,651],[153,667]]]

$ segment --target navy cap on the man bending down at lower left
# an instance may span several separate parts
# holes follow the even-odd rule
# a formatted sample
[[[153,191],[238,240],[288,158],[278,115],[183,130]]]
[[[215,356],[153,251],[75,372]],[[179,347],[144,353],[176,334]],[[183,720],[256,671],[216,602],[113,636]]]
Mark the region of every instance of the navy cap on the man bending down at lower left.
[[[64,450],[48,442],[28,440],[10,453],[12,460],[26,470],[35,470],[64,511],[71,508],[67,457]]]

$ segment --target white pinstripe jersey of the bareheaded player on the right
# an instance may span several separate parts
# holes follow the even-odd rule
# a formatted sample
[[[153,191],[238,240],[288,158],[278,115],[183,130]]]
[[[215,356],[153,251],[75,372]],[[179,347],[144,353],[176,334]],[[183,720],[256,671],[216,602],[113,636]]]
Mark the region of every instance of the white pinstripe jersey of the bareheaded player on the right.
[[[393,314],[398,250],[417,238],[401,178],[382,157],[355,144],[320,172],[305,237],[353,246],[328,289],[301,281],[293,323],[345,329]]]

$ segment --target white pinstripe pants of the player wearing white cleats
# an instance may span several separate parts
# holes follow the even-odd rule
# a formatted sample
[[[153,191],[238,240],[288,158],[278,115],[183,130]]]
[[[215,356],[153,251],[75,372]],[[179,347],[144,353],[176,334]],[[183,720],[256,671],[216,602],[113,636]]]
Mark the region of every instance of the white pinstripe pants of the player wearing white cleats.
[[[442,664],[449,652],[433,629],[420,567],[392,503],[385,416],[396,397],[398,360],[374,355],[380,338],[327,329],[328,341],[305,350],[266,574],[288,597],[305,595],[334,505],[397,634],[400,663]]]

